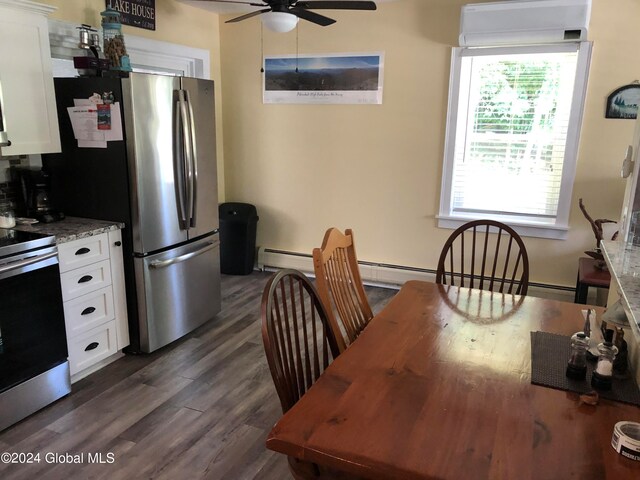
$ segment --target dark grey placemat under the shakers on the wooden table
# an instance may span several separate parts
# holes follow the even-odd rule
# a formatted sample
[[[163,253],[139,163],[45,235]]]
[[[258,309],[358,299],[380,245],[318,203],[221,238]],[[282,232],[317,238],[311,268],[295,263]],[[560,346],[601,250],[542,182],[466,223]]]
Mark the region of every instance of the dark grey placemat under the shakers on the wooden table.
[[[531,332],[531,383],[576,393],[591,392],[591,373],[596,362],[587,362],[585,380],[565,375],[571,353],[571,338],[547,332]],[[614,375],[611,390],[597,390],[602,398],[640,406],[640,390],[628,371]]]

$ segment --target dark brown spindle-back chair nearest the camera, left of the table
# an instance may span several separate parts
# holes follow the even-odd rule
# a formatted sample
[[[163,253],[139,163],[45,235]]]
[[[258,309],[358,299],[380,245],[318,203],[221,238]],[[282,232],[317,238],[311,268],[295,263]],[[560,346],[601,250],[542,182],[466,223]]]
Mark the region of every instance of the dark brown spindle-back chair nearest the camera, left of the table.
[[[282,413],[293,407],[338,354],[327,312],[313,284],[297,270],[281,270],[262,294],[262,341]],[[356,477],[288,457],[299,480]]]

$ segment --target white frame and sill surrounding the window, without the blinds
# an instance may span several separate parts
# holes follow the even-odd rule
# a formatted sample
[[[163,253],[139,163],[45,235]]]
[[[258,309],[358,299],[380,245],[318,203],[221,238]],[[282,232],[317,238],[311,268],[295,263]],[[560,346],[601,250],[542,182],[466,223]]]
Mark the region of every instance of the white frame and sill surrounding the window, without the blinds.
[[[514,53],[544,53],[577,51],[576,78],[571,101],[571,112],[567,130],[567,143],[562,169],[562,180],[558,213],[551,223],[531,219],[525,216],[483,215],[483,218],[491,218],[509,224],[520,235],[527,237],[552,238],[565,240],[569,230],[569,213],[571,210],[571,195],[576,173],[578,159],[578,147],[580,143],[580,129],[584,111],[584,101],[587,93],[587,79],[591,62],[592,42],[566,42],[560,44],[505,46],[505,47],[455,47],[451,55],[451,72],[449,77],[449,101],[447,105],[447,125],[445,133],[444,162],[442,170],[442,186],[440,190],[440,211],[436,216],[438,227],[458,228],[460,225],[477,220],[473,214],[452,213],[452,181],[454,168],[454,155],[458,124],[459,92],[462,81],[462,59],[467,56],[499,55]]]

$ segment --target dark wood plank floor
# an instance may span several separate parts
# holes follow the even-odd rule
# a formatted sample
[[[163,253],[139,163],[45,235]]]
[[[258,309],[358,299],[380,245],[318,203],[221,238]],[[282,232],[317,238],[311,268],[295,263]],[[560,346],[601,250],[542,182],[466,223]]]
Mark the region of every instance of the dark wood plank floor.
[[[117,360],[1,432],[0,453],[39,462],[0,462],[0,478],[290,478],[286,458],[264,446],[281,415],[260,330],[270,275],[223,275],[213,321],[160,351]],[[374,312],[395,293],[367,287]]]

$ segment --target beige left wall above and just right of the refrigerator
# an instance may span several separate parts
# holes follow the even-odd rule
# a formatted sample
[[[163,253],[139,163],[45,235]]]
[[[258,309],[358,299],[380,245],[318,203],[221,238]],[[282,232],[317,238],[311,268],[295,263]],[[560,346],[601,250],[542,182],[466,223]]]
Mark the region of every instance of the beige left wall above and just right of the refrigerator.
[[[57,10],[51,18],[100,25],[100,12],[105,9],[104,0],[38,0],[54,5]],[[216,82],[216,118],[222,118],[222,95],[220,75],[220,34],[218,15],[200,8],[191,7],[174,0],[156,0],[156,30],[123,27],[125,42],[127,35],[136,35],[153,40],[170,42],[188,47],[209,50],[211,79]],[[218,140],[218,185],[219,197],[224,198],[224,149],[222,122],[216,125]]]

